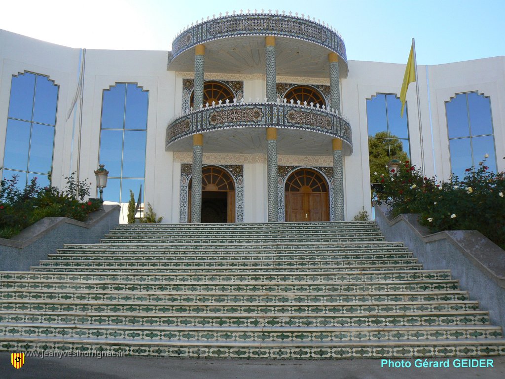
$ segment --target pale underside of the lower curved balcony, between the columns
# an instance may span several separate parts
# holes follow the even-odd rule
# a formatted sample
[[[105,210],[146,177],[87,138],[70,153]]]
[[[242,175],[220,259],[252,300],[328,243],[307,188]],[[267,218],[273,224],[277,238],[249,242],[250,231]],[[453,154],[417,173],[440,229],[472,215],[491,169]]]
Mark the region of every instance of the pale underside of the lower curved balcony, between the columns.
[[[265,128],[233,128],[203,133],[205,153],[266,154]],[[332,136],[297,129],[277,129],[277,153],[285,155],[331,156]],[[191,136],[167,147],[167,151],[191,152]],[[345,144],[344,144],[345,145]]]

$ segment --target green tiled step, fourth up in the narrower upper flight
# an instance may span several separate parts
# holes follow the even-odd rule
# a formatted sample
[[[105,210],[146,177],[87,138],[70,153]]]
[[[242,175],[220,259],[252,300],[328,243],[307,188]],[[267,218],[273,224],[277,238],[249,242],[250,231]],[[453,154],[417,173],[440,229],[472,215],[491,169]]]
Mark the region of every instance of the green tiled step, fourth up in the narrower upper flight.
[[[78,250],[78,251],[148,251],[148,252],[156,252],[156,251],[165,251],[165,252],[175,252],[175,251],[212,251],[212,252],[225,252],[228,254],[229,251],[233,252],[280,252],[280,251],[298,251],[298,252],[307,252],[310,253],[320,252],[320,251],[362,251],[362,250],[400,250],[400,251],[408,251],[408,249],[399,242],[386,242],[386,241],[376,241],[376,242],[358,242],[358,243],[349,243],[349,242],[318,242],[317,245],[314,244],[305,244],[305,243],[291,243],[291,244],[278,244],[278,243],[255,243],[255,244],[244,244],[244,243],[216,243],[216,244],[208,244],[208,243],[191,243],[188,245],[187,243],[182,244],[170,244],[163,245],[156,242],[151,241],[150,243],[142,243],[142,244],[65,244],[63,249],[58,249],[58,251],[69,251],[69,250]]]

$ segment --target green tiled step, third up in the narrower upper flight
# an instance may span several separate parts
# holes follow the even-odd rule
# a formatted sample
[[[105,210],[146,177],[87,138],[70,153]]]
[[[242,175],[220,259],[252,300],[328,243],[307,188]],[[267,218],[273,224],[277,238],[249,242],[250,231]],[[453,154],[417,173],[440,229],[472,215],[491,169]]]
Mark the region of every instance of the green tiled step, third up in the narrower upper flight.
[[[49,260],[68,260],[78,258],[79,260],[100,261],[100,260],[142,260],[142,261],[301,261],[301,262],[317,262],[317,261],[345,261],[345,260],[375,260],[375,259],[413,259],[413,254],[410,252],[342,252],[329,253],[327,251],[317,253],[247,253],[242,254],[212,254],[212,252],[175,252],[168,253],[163,251],[146,254],[145,251],[77,251],[68,250],[60,251],[58,254],[49,254]]]

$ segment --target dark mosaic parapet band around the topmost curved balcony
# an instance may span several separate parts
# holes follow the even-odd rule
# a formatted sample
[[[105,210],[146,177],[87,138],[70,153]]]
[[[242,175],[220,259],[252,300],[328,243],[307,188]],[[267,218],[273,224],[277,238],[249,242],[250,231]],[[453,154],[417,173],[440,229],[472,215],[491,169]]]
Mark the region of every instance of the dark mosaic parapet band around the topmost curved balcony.
[[[283,12],[284,13],[284,12]],[[212,40],[237,36],[273,35],[295,38],[324,46],[347,65],[347,55],[342,37],[329,25],[305,18],[286,14],[246,13],[221,16],[207,21],[203,19],[196,25],[188,26],[172,42],[168,65],[185,51],[194,46]]]

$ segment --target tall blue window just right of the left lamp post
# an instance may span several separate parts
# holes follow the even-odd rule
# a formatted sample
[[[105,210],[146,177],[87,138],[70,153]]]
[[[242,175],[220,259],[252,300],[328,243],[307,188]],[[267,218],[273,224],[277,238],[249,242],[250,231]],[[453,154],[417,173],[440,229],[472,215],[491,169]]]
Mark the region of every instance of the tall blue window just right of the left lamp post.
[[[130,189],[138,196],[144,186],[147,105],[148,91],[136,83],[104,89],[99,154],[109,170],[104,200],[126,203]]]

